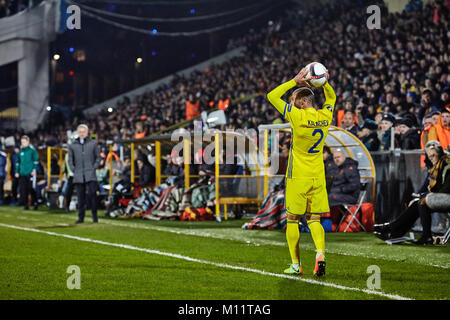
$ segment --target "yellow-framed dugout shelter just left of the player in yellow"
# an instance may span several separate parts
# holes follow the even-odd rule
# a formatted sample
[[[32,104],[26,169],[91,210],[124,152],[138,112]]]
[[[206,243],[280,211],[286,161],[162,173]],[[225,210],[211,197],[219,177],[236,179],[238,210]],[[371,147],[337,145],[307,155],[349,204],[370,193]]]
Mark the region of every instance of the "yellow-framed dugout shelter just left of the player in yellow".
[[[214,130],[195,135],[181,131],[179,134],[123,140],[118,143],[130,150],[132,182],[139,177],[134,168],[134,160],[139,151],[154,157],[155,185],[160,185],[169,177],[164,174],[164,166],[170,156],[183,158],[185,190],[200,177],[191,173],[191,166],[201,163],[213,165],[214,169],[210,174],[214,176],[215,183],[216,217],[223,215],[227,220],[230,205],[250,206],[257,210],[267,195],[268,176],[264,175],[262,160],[265,157],[258,154],[256,142],[243,133]],[[215,152],[216,150],[221,151]],[[233,153],[233,159],[238,162],[238,172],[227,175],[221,173],[220,168],[230,153]]]

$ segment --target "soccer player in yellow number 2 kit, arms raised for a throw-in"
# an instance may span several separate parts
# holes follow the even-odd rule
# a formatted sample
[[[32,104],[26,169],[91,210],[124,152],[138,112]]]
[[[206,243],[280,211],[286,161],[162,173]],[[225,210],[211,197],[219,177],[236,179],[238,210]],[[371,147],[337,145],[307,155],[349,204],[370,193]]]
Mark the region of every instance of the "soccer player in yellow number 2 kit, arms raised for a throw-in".
[[[328,81],[323,85],[325,103],[321,109],[313,106],[314,93],[309,88],[303,68],[294,79],[269,92],[271,104],[288,120],[292,127],[291,148],[286,169],[285,210],[287,211],[286,240],[292,264],[284,273],[303,273],[300,262],[299,221],[308,225],[316,246],[316,264],[313,274],[325,275],[325,232],[320,215],[330,211],[325,184],[323,145],[333,119],[336,94]],[[328,80],[328,72],[327,72]],[[289,89],[299,86],[286,103],[281,97]],[[306,221],[306,214],[310,214]]]

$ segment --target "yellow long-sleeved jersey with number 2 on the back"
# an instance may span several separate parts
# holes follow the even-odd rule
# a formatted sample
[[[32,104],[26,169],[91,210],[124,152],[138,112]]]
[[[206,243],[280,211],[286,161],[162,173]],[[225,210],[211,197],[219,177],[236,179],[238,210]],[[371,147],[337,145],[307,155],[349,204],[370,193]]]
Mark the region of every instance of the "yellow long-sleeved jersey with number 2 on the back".
[[[285,82],[269,92],[267,99],[288,120],[292,128],[286,178],[323,178],[323,145],[333,119],[336,94],[327,82],[323,85],[325,103],[322,109],[299,109],[281,99],[297,84],[294,79]]]

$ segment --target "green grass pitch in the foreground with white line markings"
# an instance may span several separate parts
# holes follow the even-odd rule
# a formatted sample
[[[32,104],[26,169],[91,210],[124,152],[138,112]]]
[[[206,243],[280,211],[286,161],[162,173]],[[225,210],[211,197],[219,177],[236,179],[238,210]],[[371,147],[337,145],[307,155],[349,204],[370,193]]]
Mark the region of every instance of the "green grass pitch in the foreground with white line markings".
[[[101,217],[101,215],[100,215]],[[300,237],[304,275],[282,231],[242,230],[246,220],[118,220],[0,207],[0,299],[448,299],[446,246],[388,246],[370,233],[327,233],[327,275],[316,279],[314,244]],[[80,269],[70,290],[69,266]],[[380,288],[368,289],[369,266]]]

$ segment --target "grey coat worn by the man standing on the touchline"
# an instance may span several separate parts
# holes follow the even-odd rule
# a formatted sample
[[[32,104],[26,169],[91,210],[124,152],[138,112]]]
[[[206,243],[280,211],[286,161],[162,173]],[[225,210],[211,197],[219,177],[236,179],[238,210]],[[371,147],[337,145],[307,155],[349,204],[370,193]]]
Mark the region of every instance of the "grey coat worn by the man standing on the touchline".
[[[86,138],[81,144],[80,138],[69,145],[69,167],[73,171],[73,183],[97,181],[96,170],[100,166],[97,142]]]

